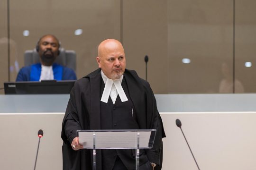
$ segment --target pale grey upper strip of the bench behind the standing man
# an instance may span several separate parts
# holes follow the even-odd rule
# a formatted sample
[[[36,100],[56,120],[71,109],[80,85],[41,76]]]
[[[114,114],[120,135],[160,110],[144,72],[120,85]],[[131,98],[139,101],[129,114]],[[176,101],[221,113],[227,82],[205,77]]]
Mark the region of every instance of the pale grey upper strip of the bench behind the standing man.
[[[256,111],[256,94],[155,94],[160,112]],[[65,112],[69,94],[0,95],[0,113]]]

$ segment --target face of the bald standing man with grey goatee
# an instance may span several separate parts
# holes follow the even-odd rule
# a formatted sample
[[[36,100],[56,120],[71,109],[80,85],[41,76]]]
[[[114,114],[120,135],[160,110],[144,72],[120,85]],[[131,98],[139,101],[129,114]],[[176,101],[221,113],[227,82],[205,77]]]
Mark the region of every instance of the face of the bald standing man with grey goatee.
[[[123,46],[119,42],[107,42],[99,46],[97,62],[99,68],[110,79],[119,79],[125,71],[126,59]]]

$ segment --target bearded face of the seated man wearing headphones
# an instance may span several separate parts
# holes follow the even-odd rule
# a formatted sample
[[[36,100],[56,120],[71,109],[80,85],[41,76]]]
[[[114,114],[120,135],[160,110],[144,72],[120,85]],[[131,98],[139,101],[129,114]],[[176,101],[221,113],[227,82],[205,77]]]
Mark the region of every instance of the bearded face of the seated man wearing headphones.
[[[39,42],[38,54],[40,61],[45,66],[53,65],[58,56],[59,42],[55,37],[46,35]]]

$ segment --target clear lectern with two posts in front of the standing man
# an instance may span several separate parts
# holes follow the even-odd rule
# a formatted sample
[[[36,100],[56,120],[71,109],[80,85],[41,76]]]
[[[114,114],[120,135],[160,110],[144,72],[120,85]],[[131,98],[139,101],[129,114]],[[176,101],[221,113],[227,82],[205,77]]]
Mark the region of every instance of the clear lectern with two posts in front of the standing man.
[[[136,170],[139,170],[139,149],[153,147],[156,129],[77,130],[83,149],[93,149],[93,170],[96,170],[96,149],[135,149]]]

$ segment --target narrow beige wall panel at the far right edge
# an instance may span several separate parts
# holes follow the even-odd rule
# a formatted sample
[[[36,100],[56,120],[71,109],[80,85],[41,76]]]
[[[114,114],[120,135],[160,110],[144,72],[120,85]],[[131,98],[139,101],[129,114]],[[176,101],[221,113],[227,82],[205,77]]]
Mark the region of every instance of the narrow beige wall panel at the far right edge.
[[[256,92],[256,1],[236,1],[235,77],[246,93]],[[252,67],[245,67],[251,62]],[[238,84],[239,85],[239,84]],[[239,88],[236,85],[235,88]]]

